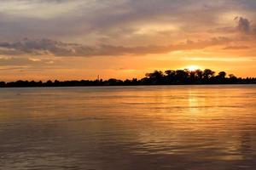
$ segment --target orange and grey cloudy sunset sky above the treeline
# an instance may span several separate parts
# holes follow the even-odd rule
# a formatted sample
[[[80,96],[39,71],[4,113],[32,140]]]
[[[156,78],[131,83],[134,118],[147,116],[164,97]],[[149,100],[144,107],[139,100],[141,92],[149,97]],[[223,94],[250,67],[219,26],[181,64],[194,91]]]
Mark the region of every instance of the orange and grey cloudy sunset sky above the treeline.
[[[0,81],[256,77],[255,52],[255,0],[0,0]]]

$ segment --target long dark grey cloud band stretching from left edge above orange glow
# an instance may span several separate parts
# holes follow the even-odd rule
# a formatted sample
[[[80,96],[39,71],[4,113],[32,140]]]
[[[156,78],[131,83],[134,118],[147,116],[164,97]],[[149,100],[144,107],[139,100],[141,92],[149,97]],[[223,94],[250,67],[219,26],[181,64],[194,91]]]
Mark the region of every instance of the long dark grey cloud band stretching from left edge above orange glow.
[[[209,40],[190,41],[168,46],[138,46],[125,47],[102,44],[97,47],[90,47],[79,43],[59,42],[49,39],[23,39],[20,42],[0,42],[0,54],[20,55],[54,55],[54,56],[111,56],[111,55],[145,55],[162,54],[177,50],[192,50],[207,48],[230,42],[227,37],[213,37]]]

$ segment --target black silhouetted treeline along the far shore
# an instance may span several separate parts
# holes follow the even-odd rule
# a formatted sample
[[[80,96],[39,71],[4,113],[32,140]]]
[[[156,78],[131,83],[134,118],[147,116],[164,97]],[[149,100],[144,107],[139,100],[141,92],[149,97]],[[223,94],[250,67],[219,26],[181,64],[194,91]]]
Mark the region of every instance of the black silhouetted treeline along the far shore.
[[[255,77],[241,78],[233,74],[227,76],[226,72],[206,69],[204,71],[189,71],[188,69],[177,71],[154,71],[147,73],[146,77],[138,80],[81,80],[81,81],[58,81],[47,82],[35,81],[17,81],[17,82],[0,82],[0,88],[26,88],[26,87],[78,87],[78,86],[138,86],[138,85],[192,85],[192,84],[255,84]]]

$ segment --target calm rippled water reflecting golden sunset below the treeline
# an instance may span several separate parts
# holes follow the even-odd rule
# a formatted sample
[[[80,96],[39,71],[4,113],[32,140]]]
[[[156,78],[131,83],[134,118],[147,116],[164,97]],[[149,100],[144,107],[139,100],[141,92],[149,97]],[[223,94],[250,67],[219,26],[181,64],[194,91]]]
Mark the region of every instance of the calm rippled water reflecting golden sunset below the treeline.
[[[256,169],[256,86],[1,88],[0,169]]]

